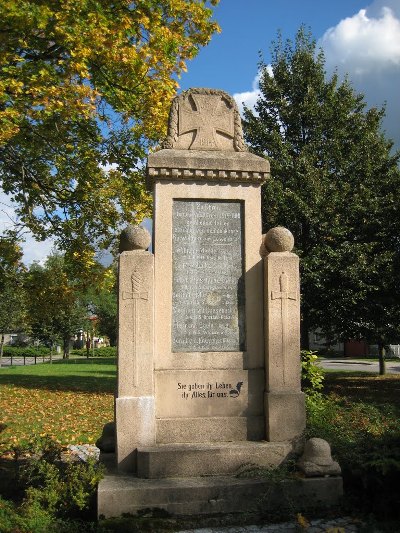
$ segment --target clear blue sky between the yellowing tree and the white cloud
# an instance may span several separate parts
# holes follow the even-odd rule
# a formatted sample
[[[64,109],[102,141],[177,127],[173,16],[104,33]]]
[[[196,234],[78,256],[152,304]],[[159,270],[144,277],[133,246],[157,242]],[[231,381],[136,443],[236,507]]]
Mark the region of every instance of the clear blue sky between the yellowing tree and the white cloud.
[[[248,91],[259,51],[268,62],[278,30],[293,37],[304,23],[319,38],[365,5],[362,0],[221,0],[214,19],[222,31],[189,63],[181,87],[213,87],[231,94]]]

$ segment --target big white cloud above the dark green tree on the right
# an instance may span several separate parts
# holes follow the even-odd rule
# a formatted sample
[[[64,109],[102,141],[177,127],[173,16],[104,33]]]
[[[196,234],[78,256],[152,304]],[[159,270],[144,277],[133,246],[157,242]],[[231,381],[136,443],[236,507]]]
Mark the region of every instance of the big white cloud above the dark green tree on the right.
[[[375,0],[352,17],[329,28],[318,42],[326,68],[337,68],[369,106],[386,103],[383,127],[400,147],[400,2]]]

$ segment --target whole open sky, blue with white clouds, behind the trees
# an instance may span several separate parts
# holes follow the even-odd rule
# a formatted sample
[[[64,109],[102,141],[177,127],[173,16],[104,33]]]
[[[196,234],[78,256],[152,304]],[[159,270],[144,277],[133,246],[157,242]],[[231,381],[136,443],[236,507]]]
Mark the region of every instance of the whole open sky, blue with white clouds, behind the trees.
[[[305,24],[325,51],[328,74],[347,73],[368,105],[386,102],[384,128],[400,148],[400,0],[221,0],[214,18],[222,31],[189,62],[182,90],[223,89],[239,106],[253,105],[259,52],[268,63],[277,31],[293,38]],[[7,204],[0,194],[0,232],[13,215]],[[28,235],[24,261],[43,259],[51,247]]]

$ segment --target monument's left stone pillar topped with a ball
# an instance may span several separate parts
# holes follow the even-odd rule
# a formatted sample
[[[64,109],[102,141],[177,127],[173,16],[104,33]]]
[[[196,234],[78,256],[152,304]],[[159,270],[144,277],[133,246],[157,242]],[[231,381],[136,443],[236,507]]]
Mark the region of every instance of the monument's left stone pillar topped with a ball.
[[[118,469],[136,472],[139,446],[155,442],[153,380],[154,256],[150,234],[121,235],[118,292],[118,390],[115,401]]]

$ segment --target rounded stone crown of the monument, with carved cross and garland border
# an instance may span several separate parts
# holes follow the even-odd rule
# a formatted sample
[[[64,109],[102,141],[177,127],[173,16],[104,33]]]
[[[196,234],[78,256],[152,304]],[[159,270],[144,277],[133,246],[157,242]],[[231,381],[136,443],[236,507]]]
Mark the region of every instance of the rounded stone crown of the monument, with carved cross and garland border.
[[[245,151],[235,100],[224,91],[205,88],[174,98],[164,148]]]

